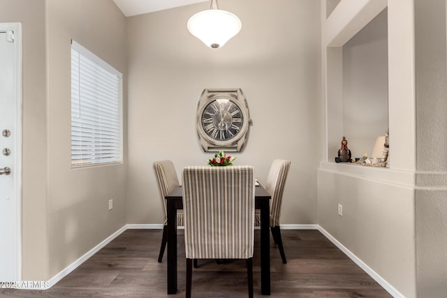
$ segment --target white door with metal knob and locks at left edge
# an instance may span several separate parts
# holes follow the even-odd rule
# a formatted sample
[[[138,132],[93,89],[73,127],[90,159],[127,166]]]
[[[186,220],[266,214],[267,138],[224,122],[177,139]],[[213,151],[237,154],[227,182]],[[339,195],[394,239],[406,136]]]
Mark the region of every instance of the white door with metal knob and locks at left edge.
[[[22,49],[19,23],[0,23],[0,281],[20,281]]]

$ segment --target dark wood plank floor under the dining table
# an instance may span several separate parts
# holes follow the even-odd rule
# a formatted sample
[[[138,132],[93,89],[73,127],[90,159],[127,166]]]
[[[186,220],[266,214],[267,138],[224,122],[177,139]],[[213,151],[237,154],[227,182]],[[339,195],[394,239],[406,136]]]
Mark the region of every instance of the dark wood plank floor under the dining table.
[[[283,230],[288,263],[272,242],[270,297],[391,297],[317,230]],[[261,295],[259,230],[254,255],[254,297]],[[3,297],[184,297],[184,242],[179,230],[178,292],[166,294],[166,254],[157,262],[161,230],[126,230],[48,290],[2,289]],[[193,297],[247,297],[245,262],[199,260]]]

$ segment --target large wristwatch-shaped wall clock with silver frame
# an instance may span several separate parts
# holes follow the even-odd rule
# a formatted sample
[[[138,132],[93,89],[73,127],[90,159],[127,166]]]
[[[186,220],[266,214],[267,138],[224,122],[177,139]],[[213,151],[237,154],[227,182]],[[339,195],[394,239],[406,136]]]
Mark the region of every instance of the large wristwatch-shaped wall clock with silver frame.
[[[204,89],[197,106],[197,133],[205,152],[240,152],[250,117],[241,89]]]

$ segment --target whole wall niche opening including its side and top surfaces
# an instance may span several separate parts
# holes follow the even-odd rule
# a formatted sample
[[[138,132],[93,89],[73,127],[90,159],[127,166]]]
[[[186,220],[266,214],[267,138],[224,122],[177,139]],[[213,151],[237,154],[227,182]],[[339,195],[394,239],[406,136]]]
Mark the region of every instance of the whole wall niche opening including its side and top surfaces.
[[[325,22],[330,162],[342,137],[348,140],[352,157],[361,158],[371,156],[376,138],[388,131],[388,9],[386,3],[370,3],[352,8],[340,1]],[[327,2],[331,9],[332,5],[333,1]],[[349,13],[355,17],[350,19]],[[339,23],[341,18],[350,22],[337,31],[332,21]]]

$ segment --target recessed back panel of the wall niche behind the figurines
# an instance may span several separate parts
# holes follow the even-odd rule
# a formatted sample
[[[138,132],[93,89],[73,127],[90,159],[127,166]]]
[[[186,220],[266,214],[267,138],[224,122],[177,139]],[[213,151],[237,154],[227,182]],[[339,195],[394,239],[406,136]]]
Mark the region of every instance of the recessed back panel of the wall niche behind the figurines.
[[[388,131],[388,13],[343,45],[343,128],[353,156],[371,156]]]

